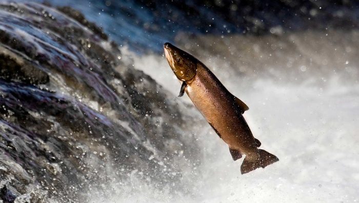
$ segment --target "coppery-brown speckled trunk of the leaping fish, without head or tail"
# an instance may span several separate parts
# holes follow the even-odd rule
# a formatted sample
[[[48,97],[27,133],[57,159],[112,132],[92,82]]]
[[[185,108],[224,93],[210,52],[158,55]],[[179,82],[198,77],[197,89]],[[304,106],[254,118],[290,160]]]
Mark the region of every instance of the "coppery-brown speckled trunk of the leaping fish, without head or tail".
[[[203,64],[197,65],[197,74],[187,83],[186,93],[231,149],[243,154],[257,151],[255,139],[234,96]]]

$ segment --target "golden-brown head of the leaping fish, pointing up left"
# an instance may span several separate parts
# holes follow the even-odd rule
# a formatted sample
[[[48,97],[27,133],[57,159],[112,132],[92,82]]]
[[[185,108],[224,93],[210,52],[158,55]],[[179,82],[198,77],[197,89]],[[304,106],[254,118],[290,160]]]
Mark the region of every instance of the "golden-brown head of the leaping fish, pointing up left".
[[[196,75],[198,59],[168,42],[164,49],[168,64],[176,77],[186,82],[192,80]]]

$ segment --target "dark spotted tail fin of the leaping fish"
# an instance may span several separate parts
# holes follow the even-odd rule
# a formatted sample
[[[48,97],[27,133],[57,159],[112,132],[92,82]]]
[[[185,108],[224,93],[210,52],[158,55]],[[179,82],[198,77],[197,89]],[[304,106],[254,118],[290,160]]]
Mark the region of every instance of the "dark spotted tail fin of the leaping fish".
[[[273,164],[274,162],[279,161],[279,159],[263,149],[259,149],[257,159],[250,159],[250,157],[245,157],[241,166],[241,173],[248,173],[257,168],[264,168],[268,165]]]

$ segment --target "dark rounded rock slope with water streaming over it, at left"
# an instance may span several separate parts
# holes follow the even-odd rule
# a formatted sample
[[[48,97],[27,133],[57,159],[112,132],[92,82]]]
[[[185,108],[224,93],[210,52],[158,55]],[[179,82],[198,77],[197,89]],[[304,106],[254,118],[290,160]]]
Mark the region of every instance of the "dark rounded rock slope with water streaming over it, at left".
[[[2,3],[0,33],[1,187],[86,201],[113,176],[166,185],[173,160],[195,162],[193,118],[78,11]]]

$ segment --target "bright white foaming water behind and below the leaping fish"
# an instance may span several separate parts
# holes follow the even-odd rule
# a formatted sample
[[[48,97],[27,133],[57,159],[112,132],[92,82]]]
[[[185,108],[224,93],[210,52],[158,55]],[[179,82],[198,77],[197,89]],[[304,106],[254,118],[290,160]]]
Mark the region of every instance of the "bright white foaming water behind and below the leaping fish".
[[[334,34],[334,37],[343,36],[342,33]],[[116,191],[109,195],[96,196],[93,202],[359,201],[359,83],[355,79],[358,63],[353,53],[336,54],[336,50],[348,51],[346,44],[353,40],[353,33],[344,35],[343,39],[335,38],[342,41],[334,45],[331,41],[333,38],[318,41],[312,36],[313,33],[292,34],[292,37],[302,40],[296,47],[303,49],[294,49],[273,59],[272,62],[278,67],[287,66],[286,61],[295,56],[303,56],[303,50],[306,52],[310,47],[322,50],[300,57],[302,62],[298,62],[293,70],[299,70],[298,74],[311,71],[306,77],[301,78],[296,74],[293,76],[293,70],[275,70],[278,72],[277,77],[288,76],[286,80],[271,78],[271,74],[265,71],[254,77],[251,74],[241,75],[237,67],[226,64],[230,56],[217,52],[217,56],[211,57],[207,55],[211,50],[201,49],[203,46],[200,43],[198,47],[192,47],[193,50],[199,50],[196,54],[223,81],[229,91],[249,106],[250,109],[244,116],[254,136],[262,142],[262,149],[278,156],[279,162],[241,175],[242,160],[233,162],[227,145],[216,136],[204,118],[198,117],[198,128],[193,129],[193,132],[202,146],[201,165],[193,166],[191,171],[185,171],[182,174],[182,182],[174,183],[178,188],[185,188],[184,191],[187,192],[145,185],[136,178],[134,171],[133,176],[122,183],[121,187],[118,183],[110,186]],[[276,36],[273,36],[273,40],[275,38]],[[284,41],[285,38],[286,36],[275,40],[289,47],[292,42]],[[227,45],[228,43],[235,44],[227,39]],[[266,43],[264,39],[256,39],[258,47]],[[353,47],[350,48],[351,52],[357,52],[356,45],[349,44]],[[260,49],[255,44],[253,47],[253,50],[259,49],[258,55],[280,53]],[[218,46],[218,49],[220,48]],[[213,50],[215,49],[214,46]],[[122,51],[131,55],[129,51]],[[251,53],[251,50],[248,53]],[[246,54],[238,54],[244,55],[245,58],[237,58],[237,63],[250,60]],[[343,54],[347,58],[343,57]],[[143,70],[164,85],[173,93],[173,97],[178,94],[180,85],[163,56],[150,54],[138,57],[133,54],[132,57],[135,58],[133,64],[137,69]],[[320,61],[320,57],[327,60],[326,67],[320,68],[317,63],[312,62],[314,58]],[[232,57],[230,60],[236,59]],[[253,60],[257,60],[253,63],[261,64],[258,62],[260,59]],[[223,66],[213,67],[213,64]],[[348,69],[343,67],[349,65],[352,70],[349,75],[352,77],[348,79]],[[249,63],[248,70],[251,68]],[[187,96],[175,99],[192,105]],[[189,107],[189,111],[193,111],[193,108]]]

